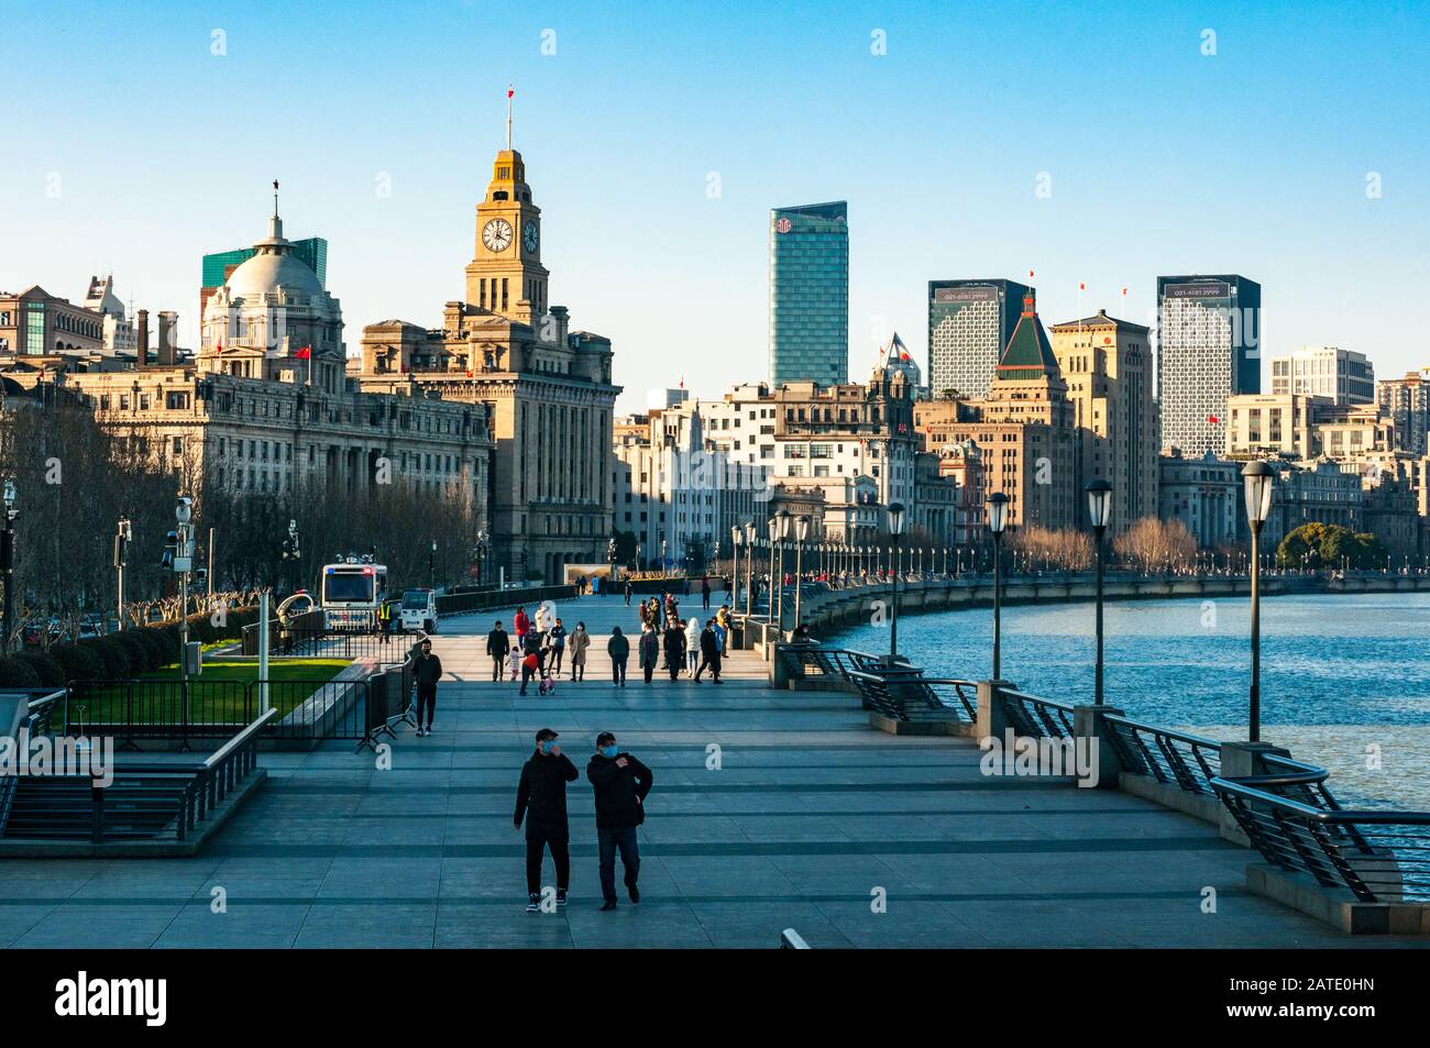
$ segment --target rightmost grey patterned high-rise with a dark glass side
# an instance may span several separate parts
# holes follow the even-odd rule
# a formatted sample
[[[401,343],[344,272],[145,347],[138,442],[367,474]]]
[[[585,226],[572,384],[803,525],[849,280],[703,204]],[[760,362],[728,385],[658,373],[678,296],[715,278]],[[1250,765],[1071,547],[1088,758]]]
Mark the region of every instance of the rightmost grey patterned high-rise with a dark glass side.
[[[1226,445],[1227,397],[1261,392],[1261,285],[1244,276],[1157,277],[1161,446],[1194,459]]]

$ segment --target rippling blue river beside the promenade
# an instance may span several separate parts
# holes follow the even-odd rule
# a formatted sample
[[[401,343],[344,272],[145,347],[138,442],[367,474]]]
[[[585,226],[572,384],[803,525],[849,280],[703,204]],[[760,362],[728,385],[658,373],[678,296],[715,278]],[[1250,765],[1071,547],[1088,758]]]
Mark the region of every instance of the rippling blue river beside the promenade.
[[[1244,739],[1251,605],[1241,598],[1105,606],[1105,702],[1134,719]],[[1002,610],[1002,675],[1093,701],[1091,603]],[[907,615],[899,651],[930,676],[985,679],[992,612]],[[888,651],[887,626],[828,643]],[[1331,771],[1343,805],[1430,811],[1430,593],[1287,595],[1261,602],[1261,738]]]

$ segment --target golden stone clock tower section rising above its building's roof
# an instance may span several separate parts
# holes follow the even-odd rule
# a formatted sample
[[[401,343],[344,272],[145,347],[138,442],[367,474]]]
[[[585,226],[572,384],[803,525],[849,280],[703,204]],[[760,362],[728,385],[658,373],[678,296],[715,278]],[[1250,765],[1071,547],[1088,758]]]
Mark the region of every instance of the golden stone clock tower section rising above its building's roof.
[[[549,309],[546,267],[541,265],[541,209],[532,203],[526,164],[503,149],[492,164],[486,199],[476,206],[476,253],[466,267],[466,302],[535,326]]]

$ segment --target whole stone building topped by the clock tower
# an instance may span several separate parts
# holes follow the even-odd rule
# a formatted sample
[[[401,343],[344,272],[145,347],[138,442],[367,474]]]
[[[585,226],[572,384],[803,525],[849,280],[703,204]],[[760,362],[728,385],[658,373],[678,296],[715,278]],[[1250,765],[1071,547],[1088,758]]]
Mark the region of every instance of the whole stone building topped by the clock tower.
[[[496,154],[476,206],[466,300],[439,327],[369,325],[352,370],[363,392],[439,396],[485,410],[495,439],[488,492],[493,565],[556,582],[605,563],[612,533],[611,342],[571,330],[549,305],[541,209],[521,153]]]

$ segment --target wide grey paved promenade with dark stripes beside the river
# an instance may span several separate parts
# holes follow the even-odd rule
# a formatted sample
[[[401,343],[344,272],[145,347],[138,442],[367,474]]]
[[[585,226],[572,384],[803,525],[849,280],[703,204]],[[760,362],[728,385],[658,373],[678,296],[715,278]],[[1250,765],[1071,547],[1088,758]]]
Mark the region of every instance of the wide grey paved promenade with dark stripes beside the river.
[[[1205,824],[1113,791],[984,778],[971,742],[894,738],[851,696],[769,691],[749,655],[719,688],[635,675],[615,689],[603,635],[632,612],[618,598],[559,612],[601,635],[583,683],[519,699],[489,681],[493,615],[443,621],[436,733],[405,729],[390,771],[350,743],[265,753],[269,782],[200,858],[3,862],[0,945],[774,946],[789,926],[817,948],[1406,944],[1247,895],[1248,852]],[[655,772],[639,906],[598,912],[582,776],[571,905],[525,912],[511,818],[542,726],[578,768],[611,729]]]

